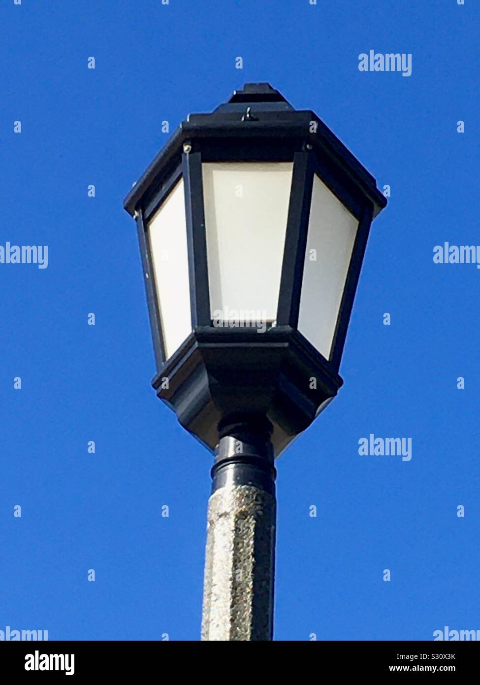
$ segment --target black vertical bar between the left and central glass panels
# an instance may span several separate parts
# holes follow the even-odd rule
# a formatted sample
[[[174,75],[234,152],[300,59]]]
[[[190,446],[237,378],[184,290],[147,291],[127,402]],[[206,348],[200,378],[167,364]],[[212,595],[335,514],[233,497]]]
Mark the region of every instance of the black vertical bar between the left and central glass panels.
[[[188,274],[192,328],[210,326],[210,293],[208,288],[207,240],[203,208],[201,154],[182,154],[187,221]]]

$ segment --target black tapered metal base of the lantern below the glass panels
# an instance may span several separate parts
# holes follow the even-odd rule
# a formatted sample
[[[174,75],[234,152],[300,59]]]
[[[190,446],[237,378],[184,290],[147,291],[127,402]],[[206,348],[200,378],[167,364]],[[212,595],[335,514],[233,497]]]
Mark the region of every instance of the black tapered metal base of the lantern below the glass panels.
[[[218,444],[220,421],[255,414],[274,426],[275,456],[342,383],[332,364],[290,326],[264,333],[196,329],[153,379],[157,396],[210,450]]]

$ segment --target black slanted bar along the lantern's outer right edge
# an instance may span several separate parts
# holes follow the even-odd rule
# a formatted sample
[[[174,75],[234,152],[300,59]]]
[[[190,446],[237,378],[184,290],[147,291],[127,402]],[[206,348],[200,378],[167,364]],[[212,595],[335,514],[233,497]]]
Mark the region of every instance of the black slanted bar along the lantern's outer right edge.
[[[357,235],[355,236],[355,243],[353,245],[352,256],[350,259],[349,271],[346,275],[342,302],[340,303],[340,310],[338,311],[335,334],[333,335],[333,342],[331,344],[330,361],[337,370],[340,366],[340,360],[342,359],[346,331],[349,327],[353,300],[355,299],[355,292],[357,290],[360,270],[362,269],[362,262],[364,261],[365,248],[368,240],[368,234],[370,232],[370,225],[372,223],[372,216],[373,205],[368,203],[364,206],[360,216]]]

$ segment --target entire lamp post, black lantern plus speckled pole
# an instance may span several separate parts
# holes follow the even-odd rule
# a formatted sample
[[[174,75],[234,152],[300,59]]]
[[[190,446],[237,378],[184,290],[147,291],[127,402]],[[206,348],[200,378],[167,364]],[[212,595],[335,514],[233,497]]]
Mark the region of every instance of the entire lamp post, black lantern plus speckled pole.
[[[153,388],[214,452],[203,640],[271,640],[275,458],[336,396],[375,179],[311,111],[247,84],[131,189]]]

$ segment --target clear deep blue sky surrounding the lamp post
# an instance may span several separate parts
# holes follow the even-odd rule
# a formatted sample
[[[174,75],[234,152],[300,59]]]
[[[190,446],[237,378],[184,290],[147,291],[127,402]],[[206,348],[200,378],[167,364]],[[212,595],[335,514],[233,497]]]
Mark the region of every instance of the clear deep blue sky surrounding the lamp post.
[[[480,629],[480,271],[433,263],[435,245],[480,242],[479,15],[473,0],[2,3],[0,245],[48,245],[49,262],[0,264],[0,630],[199,639],[211,456],[150,387],[122,201],[162,121],[245,82],[316,111],[391,186],[344,386],[277,463],[275,639]],[[412,53],[412,75],[360,72],[370,49]],[[370,433],[412,438],[412,460],[359,456]]]

